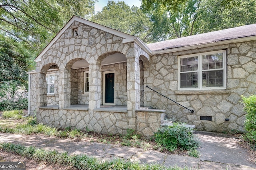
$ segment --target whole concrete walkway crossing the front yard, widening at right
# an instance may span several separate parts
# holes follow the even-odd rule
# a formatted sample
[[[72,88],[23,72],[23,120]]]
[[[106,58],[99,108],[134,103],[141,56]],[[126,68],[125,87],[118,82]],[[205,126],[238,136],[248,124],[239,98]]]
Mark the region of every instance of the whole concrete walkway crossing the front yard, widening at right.
[[[249,162],[248,150],[240,147],[232,135],[221,133],[195,132],[200,139],[200,158],[166,154],[141,148],[117,147],[102,143],[90,143],[60,139],[44,135],[16,135],[0,133],[0,142],[18,143],[26,146],[67,151],[69,154],[86,154],[100,160],[125,158],[143,163],[159,163],[166,166],[188,166],[200,170],[256,170],[256,164]]]

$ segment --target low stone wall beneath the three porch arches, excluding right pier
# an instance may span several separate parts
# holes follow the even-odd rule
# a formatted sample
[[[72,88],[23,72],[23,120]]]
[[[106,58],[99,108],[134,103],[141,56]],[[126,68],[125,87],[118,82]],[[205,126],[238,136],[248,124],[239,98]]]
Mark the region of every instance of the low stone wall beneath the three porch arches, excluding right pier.
[[[66,127],[98,133],[125,135],[127,129],[135,129],[135,117],[127,117],[127,113],[40,109],[36,115],[38,123],[44,123],[59,129]]]

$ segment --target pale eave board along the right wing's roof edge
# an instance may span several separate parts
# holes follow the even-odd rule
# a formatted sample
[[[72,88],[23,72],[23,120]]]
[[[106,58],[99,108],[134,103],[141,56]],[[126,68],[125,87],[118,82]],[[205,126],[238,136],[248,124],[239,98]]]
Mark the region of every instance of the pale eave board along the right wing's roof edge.
[[[159,51],[152,51],[152,55],[158,55],[158,54],[166,54],[166,53],[173,53],[178,51],[186,51],[191,49],[198,49],[198,48],[204,48],[204,47],[211,47],[216,45],[224,45],[224,44],[230,44],[230,43],[240,43],[244,41],[252,41],[256,40],[256,35],[250,36],[250,37],[242,37],[242,38],[236,38],[236,39],[228,39],[223,41],[215,41],[205,44],[197,44],[197,45],[191,45],[191,46],[185,46],[185,47],[178,47],[178,48],[172,48],[172,49],[166,49],[166,50],[159,50]]]

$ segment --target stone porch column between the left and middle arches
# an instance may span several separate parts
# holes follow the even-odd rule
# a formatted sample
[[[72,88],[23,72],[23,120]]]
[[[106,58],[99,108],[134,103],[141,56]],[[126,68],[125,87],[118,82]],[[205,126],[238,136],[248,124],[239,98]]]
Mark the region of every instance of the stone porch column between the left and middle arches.
[[[59,107],[70,107],[70,70],[60,69],[59,80]]]

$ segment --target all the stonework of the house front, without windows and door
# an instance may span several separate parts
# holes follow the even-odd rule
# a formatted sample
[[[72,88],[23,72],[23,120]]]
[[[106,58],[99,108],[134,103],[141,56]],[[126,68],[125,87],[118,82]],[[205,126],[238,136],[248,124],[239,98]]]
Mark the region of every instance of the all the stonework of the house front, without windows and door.
[[[165,119],[193,124],[198,130],[244,131],[246,113],[241,96],[256,93],[256,41],[150,54],[139,41],[123,41],[125,36],[115,34],[118,31],[90,24],[79,18],[71,19],[36,59],[36,71],[29,74],[30,114],[36,113],[38,122],[59,128],[87,127],[112,134],[125,134],[127,129],[135,129],[143,137],[149,137],[160,127],[161,116],[166,111]],[[77,28],[78,36],[74,37]],[[178,90],[179,57],[218,50],[226,50],[227,88]],[[106,57],[117,53],[126,61],[101,64]],[[73,69],[77,61],[86,61],[89,67]],[[89,72],[88,93],[84,93],[85,71]],[[126,111],[98,110],[103,104],[105,71],[115,72],[115,105],[127,106]],[[55,92],[49,95],[46,74],[52,72],[56,74]],[[146,86],[193,109],[194,113]],[[70,109],[72,104],[88,105],[88,109]],[[143,111],[141,106],[153,110]],[[201,116],[211,116],[212,120],[202,120]]]

